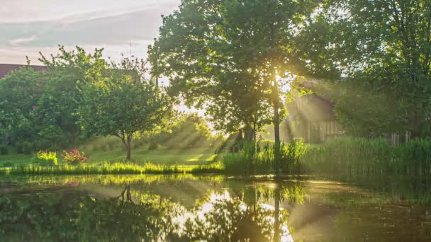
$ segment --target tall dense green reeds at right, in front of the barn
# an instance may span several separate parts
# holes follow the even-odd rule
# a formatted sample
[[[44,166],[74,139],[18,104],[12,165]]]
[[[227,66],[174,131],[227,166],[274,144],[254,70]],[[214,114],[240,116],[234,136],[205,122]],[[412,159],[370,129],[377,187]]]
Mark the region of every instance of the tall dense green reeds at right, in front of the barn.
[[[427,175],[431,173],[431,140],[392,145],[386,139],[339,137],[309,146],[300,160],[307,173]]]

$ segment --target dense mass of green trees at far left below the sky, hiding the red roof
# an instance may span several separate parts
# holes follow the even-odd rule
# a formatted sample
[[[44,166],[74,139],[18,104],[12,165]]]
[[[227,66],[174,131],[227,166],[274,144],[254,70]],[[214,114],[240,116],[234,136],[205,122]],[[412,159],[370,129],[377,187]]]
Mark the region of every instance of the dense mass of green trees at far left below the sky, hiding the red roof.
[[[81,95],[78,86],[89,71],[105,63],[101,50],[87,54],[84,49],[59,54],[40,61],[48,71],[23,67],[0,80],[0,134],[11,137],[14,146],[33,142],[35,149],[57,150],[74,144],[81,135],[77,111]]]

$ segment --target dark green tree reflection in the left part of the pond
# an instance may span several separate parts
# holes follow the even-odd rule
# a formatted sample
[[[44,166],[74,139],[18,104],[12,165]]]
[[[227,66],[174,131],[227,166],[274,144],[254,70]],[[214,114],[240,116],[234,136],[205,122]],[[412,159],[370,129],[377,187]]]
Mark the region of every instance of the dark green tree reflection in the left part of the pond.
[[[126,193],[125,193],[126,192]],[[124,195],[126,196],[124,199]],[[85,192],[51,191],[0,198],[0,238],[7,241],[157,241],[177,229],[180,207],[156,195],[133,202],[122,195],[96,199]]]

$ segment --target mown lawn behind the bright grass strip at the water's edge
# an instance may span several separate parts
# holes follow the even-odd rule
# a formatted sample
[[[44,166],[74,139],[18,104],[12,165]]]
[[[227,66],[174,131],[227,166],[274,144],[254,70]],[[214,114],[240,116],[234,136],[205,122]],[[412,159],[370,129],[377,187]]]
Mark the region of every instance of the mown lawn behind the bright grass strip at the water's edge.
[[[83,150],[86,155],[91,156],[89,163],[101,163],[103,161],[123,161],[125,159],[125,150],[116,147],[115,149],[102,151]],[[62,152],[57,152],[59,161],[61,161]],[[33,155],[25,154],[8,154],[0,155],[0,167],[6,164],[26,164],[30,163]],[[214,149],[164,149],[159,148],[149,151],[147,146],[140,146],[132,149],[132,160],[135,163],[142,164],[151,162],[160,165],[203,165],[215,158]]]

